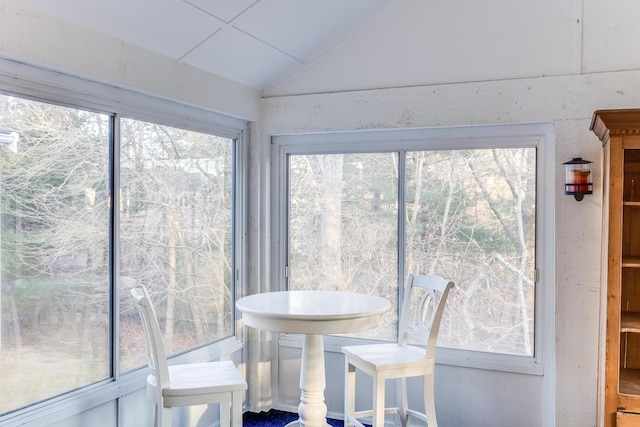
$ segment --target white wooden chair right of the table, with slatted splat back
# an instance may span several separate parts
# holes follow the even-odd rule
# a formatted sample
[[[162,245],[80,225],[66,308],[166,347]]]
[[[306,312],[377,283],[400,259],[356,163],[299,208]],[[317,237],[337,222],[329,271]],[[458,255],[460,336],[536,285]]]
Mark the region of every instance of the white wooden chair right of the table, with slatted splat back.
[[[409,416],[437,427],[434,402],[434,368],[438,329],[442,312],[453,282],[435,275],[411,274],[404,289],[398,324],[398,343],[354,345],[342,348],[345,355],[344,425],[363,423],[358,419],[371,417],[373,427],[383,427],[385,415],[397,414],[403,427]],[[416,294],[420,294],[417,295]],[[416,345],[417,344],[417,345]],[[373,379],[373,408],[355,410],[356,369]],[[407,405],[408,377],[424,378],[425,412],[410,409]],[[385,407],[385,381],[400,381],[399,407]]]

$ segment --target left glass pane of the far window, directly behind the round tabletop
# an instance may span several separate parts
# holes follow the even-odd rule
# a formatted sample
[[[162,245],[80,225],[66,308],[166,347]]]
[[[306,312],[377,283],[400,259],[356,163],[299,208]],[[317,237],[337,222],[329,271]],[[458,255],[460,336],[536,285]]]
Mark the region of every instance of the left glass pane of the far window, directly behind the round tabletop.
[[[398,156],[289,157],[289,288],[389,299],[384,325],[359,336],[395,340]]]

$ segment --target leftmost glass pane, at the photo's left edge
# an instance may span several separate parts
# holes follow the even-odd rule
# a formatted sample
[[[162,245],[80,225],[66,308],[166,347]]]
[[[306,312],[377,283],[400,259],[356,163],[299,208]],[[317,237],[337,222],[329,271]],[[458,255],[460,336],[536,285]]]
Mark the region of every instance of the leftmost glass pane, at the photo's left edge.
[[[0,412],[110,376],[109,123],[0,95]]]

